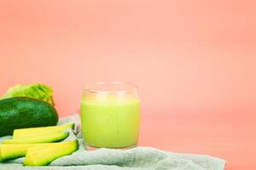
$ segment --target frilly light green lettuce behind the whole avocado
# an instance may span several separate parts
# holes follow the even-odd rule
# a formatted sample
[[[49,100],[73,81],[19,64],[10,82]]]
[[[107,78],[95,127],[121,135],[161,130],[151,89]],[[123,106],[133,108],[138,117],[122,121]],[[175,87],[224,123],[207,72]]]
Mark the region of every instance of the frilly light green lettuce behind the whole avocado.
[[[30,97],[35,99],[41,99],[48,102],[50,105],[54,105],[52,88],[44,84],[17,84],[3,94],[1,99],[7,99],[12,97]]]

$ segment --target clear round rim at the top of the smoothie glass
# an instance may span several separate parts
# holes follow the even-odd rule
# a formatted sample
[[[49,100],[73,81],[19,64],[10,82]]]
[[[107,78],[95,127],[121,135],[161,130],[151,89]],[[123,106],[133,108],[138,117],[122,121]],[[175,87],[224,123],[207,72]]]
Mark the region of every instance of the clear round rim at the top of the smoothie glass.
[[[97,85],[123,85],[126,86],[124,89],[119,89],[119,90],[99,90],[93,88],[94,86],[96,87]],[[95,93],[95,94],[120,94],[120,93],[127,93],[127,92],[132,92],[137,90],[137,84],[131,83],[131,82],[119,82],[119,81],[113,81],[113,82],[88,82],[84,84],[83,86],[83,92],[88,91],[90,93]]]

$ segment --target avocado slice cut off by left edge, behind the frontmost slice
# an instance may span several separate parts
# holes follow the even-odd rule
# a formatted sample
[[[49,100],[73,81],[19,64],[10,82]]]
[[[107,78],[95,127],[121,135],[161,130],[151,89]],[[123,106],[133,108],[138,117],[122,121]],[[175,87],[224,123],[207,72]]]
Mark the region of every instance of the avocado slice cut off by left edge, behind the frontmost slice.
[[[43,144],[0,144],[0,161],[8,161],[17,157],[26,156],[28,148],[36,146],[52,146],[58,143],[43,143]]]

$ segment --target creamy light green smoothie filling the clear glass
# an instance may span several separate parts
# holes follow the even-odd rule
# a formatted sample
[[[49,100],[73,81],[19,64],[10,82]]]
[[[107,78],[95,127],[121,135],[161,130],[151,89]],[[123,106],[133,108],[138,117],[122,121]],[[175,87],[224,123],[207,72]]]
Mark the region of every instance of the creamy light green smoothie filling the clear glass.
[[[139,133],[140,102],[82,100],[81,119],[86,144],[106,148],[133,146]]]

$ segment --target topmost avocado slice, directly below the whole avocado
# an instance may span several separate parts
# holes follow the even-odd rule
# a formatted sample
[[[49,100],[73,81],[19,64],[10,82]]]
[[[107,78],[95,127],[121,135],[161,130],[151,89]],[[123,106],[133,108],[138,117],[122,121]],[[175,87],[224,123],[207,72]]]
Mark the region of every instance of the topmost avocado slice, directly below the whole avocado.
[[[61,133],[69,128],[73,129],[74,123],[69,123],[61,126],[51,126],[51,127],[20,128],[20,129],[15,129],[13,139],[32,138],[32,137],[42,136],[49,133]]]

